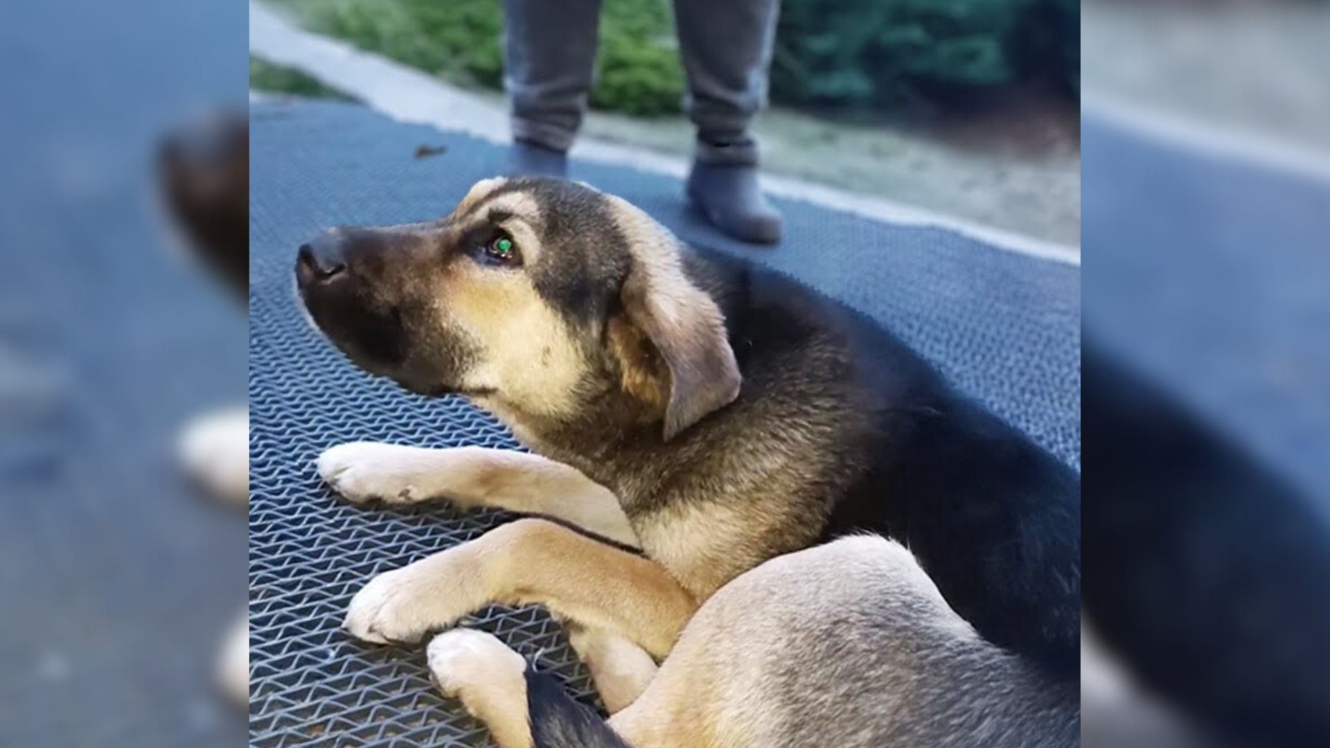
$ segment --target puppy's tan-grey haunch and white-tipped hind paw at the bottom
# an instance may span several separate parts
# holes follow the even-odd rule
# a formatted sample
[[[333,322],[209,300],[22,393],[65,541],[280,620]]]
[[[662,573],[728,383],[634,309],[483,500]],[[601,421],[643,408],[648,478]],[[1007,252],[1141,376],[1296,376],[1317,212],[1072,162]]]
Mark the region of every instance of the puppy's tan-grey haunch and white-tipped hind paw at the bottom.
[[[908,551],[876,536],[741,574],[702,604],[658,672],[589,660],[602,692],[649,683],[608,723],[489,634],[440,634],[428,659],[439,688],[501,748],[1080,744],[1077,684],[984,642]]]

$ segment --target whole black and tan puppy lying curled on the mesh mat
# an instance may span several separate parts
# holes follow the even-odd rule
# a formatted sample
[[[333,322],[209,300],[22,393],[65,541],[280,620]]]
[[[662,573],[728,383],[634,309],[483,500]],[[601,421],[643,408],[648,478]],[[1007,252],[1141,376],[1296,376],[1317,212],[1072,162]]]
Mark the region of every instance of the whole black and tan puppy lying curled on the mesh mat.
[[[540,455],[351,443],[319,458],[325,480],[557,520],[375,578],[352,635],[419,640],[539,603],[644,748],[1075,743],[1071,681],[956,614],[1075,655],[1075,475],[854,313],[686,253],[622,200],[531,180],[480,182],[443,221],[331,232],[297,277],[352,361],[468,397]],[[819,546],[864,531],[907,540],[936,584],[880,536]],[[565,745],[497,642],[446,634],[430,661],[504,748]]]

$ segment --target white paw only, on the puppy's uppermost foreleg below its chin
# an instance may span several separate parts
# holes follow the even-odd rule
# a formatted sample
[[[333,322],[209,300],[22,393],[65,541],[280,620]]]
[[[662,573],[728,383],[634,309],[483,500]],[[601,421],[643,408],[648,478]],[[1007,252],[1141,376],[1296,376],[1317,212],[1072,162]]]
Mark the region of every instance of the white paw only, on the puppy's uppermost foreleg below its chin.
[[[319,476],[347,500],[403,504],[431,498],[420,483],[418,447],[350,442],[325,450]]]

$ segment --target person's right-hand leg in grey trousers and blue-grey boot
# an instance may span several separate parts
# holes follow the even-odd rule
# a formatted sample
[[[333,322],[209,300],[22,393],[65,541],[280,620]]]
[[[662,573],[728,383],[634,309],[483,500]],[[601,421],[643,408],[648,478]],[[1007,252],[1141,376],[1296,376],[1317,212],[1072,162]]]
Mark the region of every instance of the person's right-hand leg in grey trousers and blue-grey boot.
[[[777,0],[674,0],[688,73],[697,158],[688,196],[722,232],[745,241],[781,238],[781,216],[757,184],[749,122],[766,104]]]

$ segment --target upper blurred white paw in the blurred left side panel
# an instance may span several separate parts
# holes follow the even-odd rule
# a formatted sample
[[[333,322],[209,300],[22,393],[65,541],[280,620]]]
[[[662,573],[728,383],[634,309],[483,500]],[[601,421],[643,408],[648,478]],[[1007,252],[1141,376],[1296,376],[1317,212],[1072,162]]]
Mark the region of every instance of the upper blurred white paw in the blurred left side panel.
[[[210,413],[180,435],[185,472],[207,492],[229,502],[249,500],[249,410]]]

